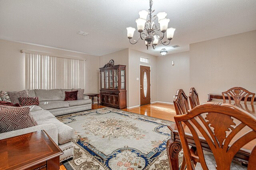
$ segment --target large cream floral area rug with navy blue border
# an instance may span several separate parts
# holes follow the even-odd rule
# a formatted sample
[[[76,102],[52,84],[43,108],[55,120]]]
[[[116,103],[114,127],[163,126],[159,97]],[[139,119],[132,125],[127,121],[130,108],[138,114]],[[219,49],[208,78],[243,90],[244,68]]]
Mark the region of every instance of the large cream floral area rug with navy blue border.
[[[67,170],[169,170],[167,125],[174,122],[109,107],[57,118],[75,130]]]

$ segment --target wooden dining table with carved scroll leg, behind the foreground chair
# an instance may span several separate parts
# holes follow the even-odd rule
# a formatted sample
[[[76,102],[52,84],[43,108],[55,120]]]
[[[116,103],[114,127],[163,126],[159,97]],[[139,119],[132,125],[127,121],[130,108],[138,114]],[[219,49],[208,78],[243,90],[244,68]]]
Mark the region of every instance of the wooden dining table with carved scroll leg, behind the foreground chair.
[[[216,103],[216,102],[210,102],[210,103]],[[256,110],[255,107],[256,105],[248,105],[248,104],[232,104],[234,106],[239,107],[240,109],[243,109],[244,111],[247,111],[248,113],[250,113],[251,115],[253,115],[254,117],[256,117]],[[178,133],[178,129],[176,126],[176,123],[168,126],[168,128],[170,129],[170,139],[168,139],[167,141],[167,153],[168,153],[168,160],[170,162],[170,167],[171,170],[178,170],[179,169],[179,159],[178,159],[178,155],[179,152],[182,150],[182,145],[180,143],[180,136]],[[186,134],[186,138],[188,141],[188,145],[192,146],[192,147],[196,147],[193,136],[190,132],[190,130],[188,129],[188,127],[183,123],[183,128]],[[204,139],[204,137],[201,135],[201,133],[197,130],[198,132],[198,136],[200,139],[200,143],[202,145],[202,149],[206,150],[208,152],[211,152],[211,149],[209,147],[209,145],[207,144],[206,140]],[[240,136],[236,135],[232,141],[236,141]],[[252,149],[254,148],[256,144],[256,139],[252,140],[250,143],[244,145],[234,156],[234,160],[237,160],[239,162],[241,162],[243,165],[247,165],[248,164],[248,160],[249,160],[249,156],[250,153],[252,151]],[[183,160],[185,161],[185,160]]]

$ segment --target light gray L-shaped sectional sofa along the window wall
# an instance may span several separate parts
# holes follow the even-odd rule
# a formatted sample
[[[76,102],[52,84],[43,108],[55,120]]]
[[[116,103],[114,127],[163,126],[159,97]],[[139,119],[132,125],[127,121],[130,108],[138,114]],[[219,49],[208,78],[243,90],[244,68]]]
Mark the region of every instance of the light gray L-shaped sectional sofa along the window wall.
[[[30,97],[39,98],[39,106],[33,105],[23,107],[30,107],[30,113],[38,125],[16,131],[0,133],[0,140],[44,130],[64,152],[64,154],[60,155],[60,162],[72,158],[74,129],[60,122],[55,116],[91,109],[92,101],[88,96],[84,96],[83,100],[64,101],[65,91],[71,90],[30,90]]]

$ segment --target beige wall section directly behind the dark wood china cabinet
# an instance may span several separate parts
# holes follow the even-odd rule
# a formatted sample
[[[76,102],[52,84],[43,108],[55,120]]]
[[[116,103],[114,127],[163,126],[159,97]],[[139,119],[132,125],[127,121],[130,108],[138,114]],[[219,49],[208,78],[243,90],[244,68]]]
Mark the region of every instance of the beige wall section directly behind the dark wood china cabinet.
[[[105,64],[107,64],[110,60],[114,60],[114,64],[115,65],[126,65],[126,104],[127,106],[129,106],[129,96],[128,96],[128,92],[129,92],[129,62],[128,62],[128,49],[124,49],[124,50],[120,50],[120,51],[116,51],[114,53],[110,53],[107,55],[102,55],[100,56],[100,67],[103,67]],[[98,74],[100,74],[99,70],[98,70]],[[100,77],[99,77],[99,82],[100,82]],[[99,86],[100,88],[100,86]]]

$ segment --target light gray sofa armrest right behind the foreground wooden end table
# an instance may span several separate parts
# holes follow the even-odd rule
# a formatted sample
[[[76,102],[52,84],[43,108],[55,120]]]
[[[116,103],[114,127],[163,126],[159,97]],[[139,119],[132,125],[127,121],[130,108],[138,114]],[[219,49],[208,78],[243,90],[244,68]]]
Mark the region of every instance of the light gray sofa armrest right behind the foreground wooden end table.
[[[58,145],[58,129],[56,125],[54,125],[53,123],[37,125],[33,127],[28,127],[25,129],[19,129],[16,131],[0,133],[0,140],[6,139],[9,137],[18,136],[18,135],[23,135],[30,132],[40,131],[40,130],[44,130],[52,138],[52,140]]]

